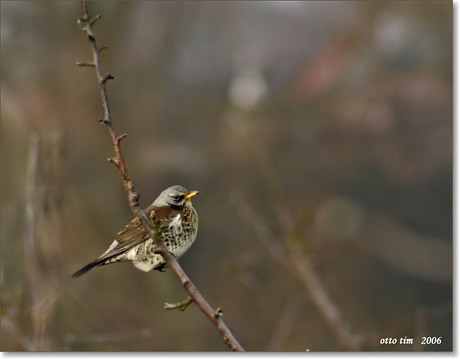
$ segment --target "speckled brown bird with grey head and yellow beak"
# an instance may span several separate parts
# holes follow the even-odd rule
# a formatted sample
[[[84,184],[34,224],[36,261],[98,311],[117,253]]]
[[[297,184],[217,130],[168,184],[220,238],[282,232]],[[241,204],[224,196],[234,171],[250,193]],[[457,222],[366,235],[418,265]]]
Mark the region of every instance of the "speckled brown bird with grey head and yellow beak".
[[[144,210],[152,224],[157,223],[161,240],[175,258],[183,255],[195,242],[198,214],[191,199],[199,193],[179,185],[171,186]],[[78,278],[94,267],[124,261],[132,261],[136,268],[144,272],[152,269],[163,272],[167,264],[157,249],[155,241],[136,217],[117,233],[104,253],[72,274],[72,278]]]

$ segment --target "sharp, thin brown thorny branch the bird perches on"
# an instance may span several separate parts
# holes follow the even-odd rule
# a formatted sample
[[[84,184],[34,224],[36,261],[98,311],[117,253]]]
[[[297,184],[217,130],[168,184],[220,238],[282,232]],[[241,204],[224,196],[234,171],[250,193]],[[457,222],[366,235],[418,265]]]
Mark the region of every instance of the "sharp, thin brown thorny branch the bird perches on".
[[[157,226],[154,227],[154,225],[148,220],[147,216],[145,215],[145,212],[139,207],[139,194],[136,188],[134,187],[134,184],[129,176],[128,170],[126,169],[125,161],[123,158],[123,152],[120,146],[121,140],[126,137],[126,134],[117,136],[112,123],[112,115],[110,112],[106,85],[108,80],[114,79],[114,76],[110,73],[104,75],[102,73],[102,67],[100,63],[100,53],[107,46],[99,46],[97,44],[92,29],[94,23],[97,20],[99,20],[101,16],[97,15],[95,17],[91,17],[89,14],[88,4],[86,0],[82,0],[81,3],[83,15],[78,22],[82,30],[86,33],[88,40],[90,42],[93,60],[92,62],[77,62],[77,65],[82,67],[93,67],[96,72],[99,84],[99,92],[104,110],[104,117],[100,120],[100,122],[106,125],[107,127],[115,152],[115,157],[109,158],[109,162],[112,162],[120,171],[123,184],[128,193],[129,206],[131,207],[131,210],[134,213],[134,215],[141,219],[142,224],[147,233],[150,235],[150,237],[154,239],[155,244],[159,248],[158,253],[161,254],[163,259],[167,263],[168,267],[171,268],[171,270],[177,275],[185,290],[189,294],[191,300],[193,300],[197,304],[200,310],[217,328],[219,333],[222,335],[222,339],[225,342],[225,344],[227,344],[233,351],[244,351],[244,349],[241,347],[241,345],[238,343],[238,341],[235,339],[233,334],[230,332],[230,330],[222,320],[222,310],[220,308],[214,310],[208,304],[208,302],[201,295],[197,287],[191,282],[191,280],[185,274],[183,269],[180,267],[177,260],[171,253],[169,253],[163,242],[160,240],[160,237],[157,235],[157,228],[155,228]]]

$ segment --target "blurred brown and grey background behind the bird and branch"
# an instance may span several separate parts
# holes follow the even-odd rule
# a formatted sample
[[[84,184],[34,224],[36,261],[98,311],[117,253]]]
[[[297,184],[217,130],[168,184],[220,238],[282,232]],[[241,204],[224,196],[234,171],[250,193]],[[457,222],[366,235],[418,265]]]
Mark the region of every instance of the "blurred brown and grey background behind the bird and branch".
[[[452,350],[452,2],[89,6],[142,206],[201,191],[180,263],[246,350]],[[171,271],[70,278],[132,218],[80,16],[1,2],[0,348],[226,351]]]

